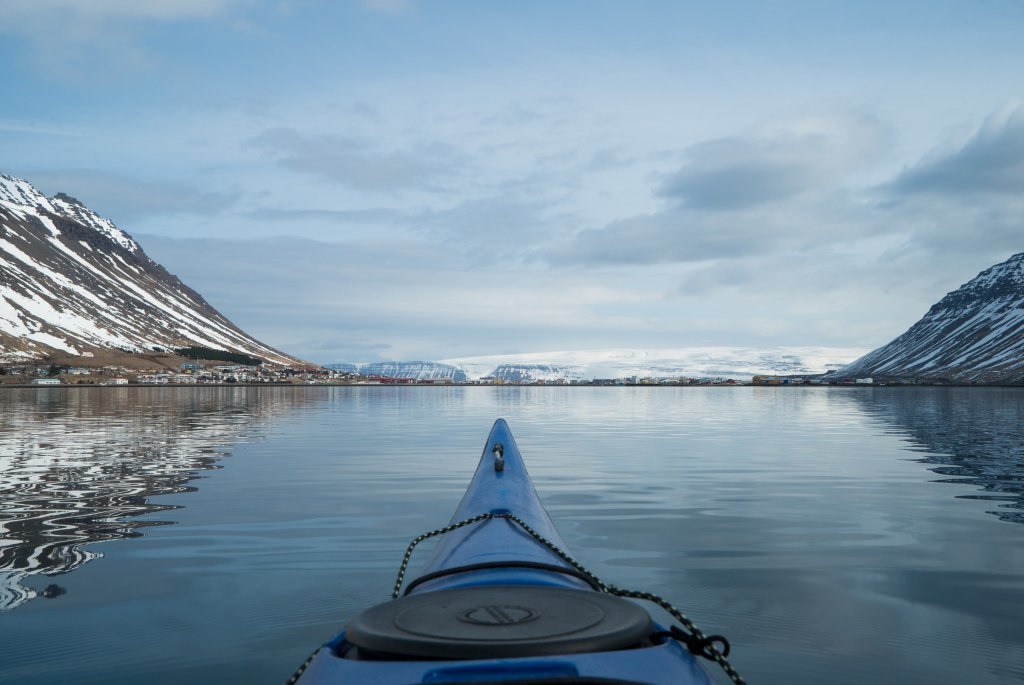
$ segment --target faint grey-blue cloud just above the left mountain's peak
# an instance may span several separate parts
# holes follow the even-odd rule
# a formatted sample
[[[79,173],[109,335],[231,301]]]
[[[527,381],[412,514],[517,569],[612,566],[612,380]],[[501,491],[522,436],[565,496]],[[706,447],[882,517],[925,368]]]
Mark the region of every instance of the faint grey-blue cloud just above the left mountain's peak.
[[[26,176],[45,194],[67,192],[121,225],[151,216],[215,216],[239,201],[238,195],[185,183],[143,181],[94,169],[41,171]]]

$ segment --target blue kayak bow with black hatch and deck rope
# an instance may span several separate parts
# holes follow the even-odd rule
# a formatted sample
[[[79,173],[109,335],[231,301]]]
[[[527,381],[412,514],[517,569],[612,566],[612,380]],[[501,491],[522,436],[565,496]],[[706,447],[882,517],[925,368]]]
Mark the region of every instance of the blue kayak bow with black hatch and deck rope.
[[[433,533],[443,534],[399,597],[413,547]],[[289,683],[714,684],[694,656],[724,662],[710,639],[694,649],[564,551],[504,420],[433,533],[407,552],[396,598],[355,616]]]

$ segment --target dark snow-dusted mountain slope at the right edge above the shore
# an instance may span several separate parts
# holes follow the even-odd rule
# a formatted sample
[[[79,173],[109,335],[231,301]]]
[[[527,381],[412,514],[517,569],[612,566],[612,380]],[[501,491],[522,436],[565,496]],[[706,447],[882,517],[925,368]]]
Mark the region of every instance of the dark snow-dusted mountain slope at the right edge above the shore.
[[[839,374],[1024,383],[1024,253],[985,269]]]

